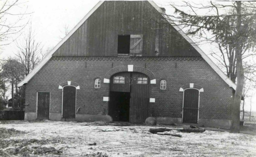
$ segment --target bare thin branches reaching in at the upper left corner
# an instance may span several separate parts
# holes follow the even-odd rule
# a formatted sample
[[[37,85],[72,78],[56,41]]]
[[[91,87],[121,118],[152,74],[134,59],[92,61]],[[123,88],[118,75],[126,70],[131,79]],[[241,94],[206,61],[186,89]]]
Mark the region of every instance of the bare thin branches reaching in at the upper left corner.
[[[6,41],[8,41],[13,34],[20,34],[20,31],[27,25],[28,22],[22,22],[26,19],[25,15],[31,14],[26,13],[27,8],[21,13],[14,13],[22,8],[20,7],[21,4],[24,3],[20,3],[18,0],[5,0],[0,3],[0,46],[10,44],[12,41]],[[15,20],[11,21],[10,17]]]

